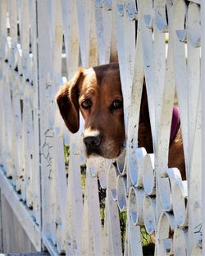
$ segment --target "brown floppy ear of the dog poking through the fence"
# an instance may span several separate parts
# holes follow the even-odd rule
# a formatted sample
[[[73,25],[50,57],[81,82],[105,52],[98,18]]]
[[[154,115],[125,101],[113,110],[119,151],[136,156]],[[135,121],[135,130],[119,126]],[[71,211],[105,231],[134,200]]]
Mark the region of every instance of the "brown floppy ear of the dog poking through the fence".
[[[80,117],[79,117],[79,87],[80,79],[83,76],[83,69],[80,68],[76,72],[75,77],[66,82],[65,85],[58,91],[56,100],[62,118],[66,123],[66,126],[72,133],[79,130]]]

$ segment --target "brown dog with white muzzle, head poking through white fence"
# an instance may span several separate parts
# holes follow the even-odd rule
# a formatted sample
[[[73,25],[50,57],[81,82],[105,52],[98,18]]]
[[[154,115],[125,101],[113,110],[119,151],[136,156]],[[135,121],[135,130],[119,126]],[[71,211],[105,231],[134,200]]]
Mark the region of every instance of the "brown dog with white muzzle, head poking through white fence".
[[[57,105],[67,128],[75,133],[84,118],[86,155],[117,158],[125,142],[123,97],[118,63],[82,67],[72,80],[58,91]],[[185,180],[185,158],[180,129],[180,117],[173,108],[168,167],[177,167]],[[176,117],[175,117],[176,116]],[[139,147],[153,153],[153,139],[148,113],[148,98],[144,82],[139,112]]]

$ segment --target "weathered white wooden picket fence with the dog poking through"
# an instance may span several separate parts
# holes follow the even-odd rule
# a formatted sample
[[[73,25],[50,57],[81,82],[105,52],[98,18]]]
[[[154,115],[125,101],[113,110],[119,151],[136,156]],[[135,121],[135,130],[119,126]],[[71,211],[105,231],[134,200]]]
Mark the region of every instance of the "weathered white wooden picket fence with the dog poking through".
[[[205,255],[204,5],[0,1],[0,187],[35,249],[46,247],[52,255],[143,255],[145,226],[155,234],[155,255]],[[116,167],[103,159],[86,162],[80,131],[66,130],[54,95],[62,76],[71,79],[80,63],[108,63],[117,54],[128,139]],[[144,75],[154,154],[137,142]],[[175,89],[187,181],[167,168]],[[70,146],[67,172],[64,144]],[[103,226],[98,181],[107,191]],[[119,210],[127,212],[125,245]]]

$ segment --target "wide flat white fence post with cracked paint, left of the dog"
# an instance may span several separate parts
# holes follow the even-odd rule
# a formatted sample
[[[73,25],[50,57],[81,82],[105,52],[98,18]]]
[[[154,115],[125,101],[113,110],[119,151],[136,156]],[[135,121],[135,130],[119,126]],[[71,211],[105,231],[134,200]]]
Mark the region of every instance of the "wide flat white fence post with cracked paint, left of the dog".
[[[37,37],[38,37],[38,80],[39,80],[39,136],[40,136],[40,183],[41,183],[41,203],[42,203],[42,240],[44,237],[50,238],[50,196],[48,179],[51,171],[50,158],[43,157],[43,150],[49,153],[49,142],[47,141],[49,134],[52,135],[52,130],[48,130],[47,126],[47,110],[48,107],[45,102],[47,97],[46,88],[48,88],[47,74],[52,67],[52,43],[49,40],[49,25],[51,25],[52,16],[48,16],[46,1],[37,2]],[[50,141],[50,140],[49,140]],[[43,147],[44,144],[44,147]],[[46,148],[48,147],[48,148]]]

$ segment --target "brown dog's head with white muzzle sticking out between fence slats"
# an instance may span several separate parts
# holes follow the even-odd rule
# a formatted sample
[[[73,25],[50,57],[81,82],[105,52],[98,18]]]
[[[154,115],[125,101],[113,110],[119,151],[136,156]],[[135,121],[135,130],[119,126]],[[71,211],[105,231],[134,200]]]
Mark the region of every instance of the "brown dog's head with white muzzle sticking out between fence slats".
[[[57,93],[57,104],[72,133],[84,117],[84,145],[87,157],[116,158],[125,140],[123,98],[119,66],[111,63],[80,68]]]

